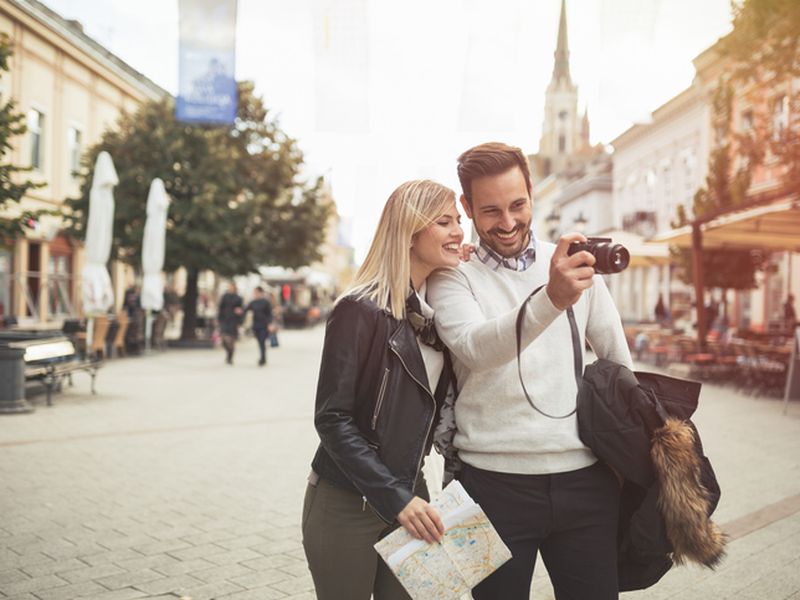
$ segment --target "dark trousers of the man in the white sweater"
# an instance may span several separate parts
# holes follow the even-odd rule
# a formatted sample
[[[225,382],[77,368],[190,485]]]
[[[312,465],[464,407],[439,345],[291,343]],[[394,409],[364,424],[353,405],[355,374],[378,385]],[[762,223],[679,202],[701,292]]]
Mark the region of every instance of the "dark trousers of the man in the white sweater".
[[[619,597],[619,484],[607,466],[515,475],[465,464],[459,480],[513,556],[475,587],[473,598],[528,600],[537,551],[558,600]]]

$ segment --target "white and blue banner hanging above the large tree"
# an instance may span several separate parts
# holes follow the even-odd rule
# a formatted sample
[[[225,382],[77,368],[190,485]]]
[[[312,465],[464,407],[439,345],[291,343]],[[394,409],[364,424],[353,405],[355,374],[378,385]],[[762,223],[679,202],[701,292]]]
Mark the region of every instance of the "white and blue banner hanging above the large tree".
[[[236,2],[180,0],[179,121],[231,124],[236,118]]]

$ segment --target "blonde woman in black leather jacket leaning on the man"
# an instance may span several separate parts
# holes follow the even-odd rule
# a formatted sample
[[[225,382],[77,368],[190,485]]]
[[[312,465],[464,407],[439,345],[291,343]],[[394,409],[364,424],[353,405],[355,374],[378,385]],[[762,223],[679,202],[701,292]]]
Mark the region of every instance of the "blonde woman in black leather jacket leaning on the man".
[[[321,443],[302,522],[319,600],[408,598],[373,545],[397,523],[441,540],[421,467],[452,370],[425,280],[458,265],[463,237],[452,190],[404,183],[328,320],[314,419]]]

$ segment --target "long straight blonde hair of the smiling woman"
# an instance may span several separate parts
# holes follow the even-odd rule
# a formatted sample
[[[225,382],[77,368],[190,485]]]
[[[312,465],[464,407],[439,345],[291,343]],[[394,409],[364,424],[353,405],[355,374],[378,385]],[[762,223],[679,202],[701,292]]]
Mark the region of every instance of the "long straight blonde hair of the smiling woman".
[[[447,212],[455,195],[429,179],[407,181],[392,192],[367,257],[342,297],[368,298],[395,319],[405,318],[414,236]]]

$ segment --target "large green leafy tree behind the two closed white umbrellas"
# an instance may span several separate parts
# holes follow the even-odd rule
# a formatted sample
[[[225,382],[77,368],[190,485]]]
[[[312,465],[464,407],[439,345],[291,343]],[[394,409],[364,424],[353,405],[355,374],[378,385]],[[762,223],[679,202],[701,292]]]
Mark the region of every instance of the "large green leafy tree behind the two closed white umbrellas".
[[[164,268],[187,270],[182,337],[192,339],[200,271],[233,276],[265,264],[308,264],[319,258],[330,207],[321,203],[319,181],[301,181],[302,152],[251,83],[239,84],[231,127],[187,125],[174,112],[171,98],[146,103],[89,150],[81,196],[68,201],[70,232],[83,235],[90,170],[105,150],[119,175],[112,255],[138,265],[148,188],[160,177],[172,200]]]

